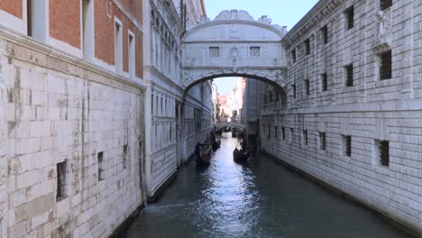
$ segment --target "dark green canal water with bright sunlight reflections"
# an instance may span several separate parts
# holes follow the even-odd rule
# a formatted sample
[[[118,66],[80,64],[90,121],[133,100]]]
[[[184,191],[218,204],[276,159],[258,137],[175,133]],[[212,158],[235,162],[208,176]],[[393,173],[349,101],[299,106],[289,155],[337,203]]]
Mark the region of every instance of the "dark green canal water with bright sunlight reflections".
[[[234,163],[230,135],[223,134],[209,167],[182,167],[124,237],[407,237],[264,155]]]

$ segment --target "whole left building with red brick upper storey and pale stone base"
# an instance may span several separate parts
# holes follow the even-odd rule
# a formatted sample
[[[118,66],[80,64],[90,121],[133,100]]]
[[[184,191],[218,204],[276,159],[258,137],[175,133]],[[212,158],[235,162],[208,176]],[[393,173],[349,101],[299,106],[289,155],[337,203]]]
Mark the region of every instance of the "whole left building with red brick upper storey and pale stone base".
[[[142,28],[142,1],[0,2],[1,237],[108,237],[142,206]]]

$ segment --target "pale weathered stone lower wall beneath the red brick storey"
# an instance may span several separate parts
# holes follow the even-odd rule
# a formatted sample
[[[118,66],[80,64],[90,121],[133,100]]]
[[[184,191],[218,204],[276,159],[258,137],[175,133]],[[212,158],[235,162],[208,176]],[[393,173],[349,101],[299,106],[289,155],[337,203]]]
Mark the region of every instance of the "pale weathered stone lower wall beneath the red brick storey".
[[[0,236],[107,237],[142,204],[142,88],[0,31]]]

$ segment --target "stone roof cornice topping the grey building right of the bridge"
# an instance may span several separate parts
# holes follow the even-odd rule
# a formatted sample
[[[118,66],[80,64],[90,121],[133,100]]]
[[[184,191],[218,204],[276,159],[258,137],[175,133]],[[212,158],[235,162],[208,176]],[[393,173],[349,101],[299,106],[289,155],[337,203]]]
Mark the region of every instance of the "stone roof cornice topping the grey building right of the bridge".
[[[301,38],[321,23],[327,15],[332,14],[346,0],[320,0],[307,14],[286,34],[282,43],[286,48],[298,43]]]

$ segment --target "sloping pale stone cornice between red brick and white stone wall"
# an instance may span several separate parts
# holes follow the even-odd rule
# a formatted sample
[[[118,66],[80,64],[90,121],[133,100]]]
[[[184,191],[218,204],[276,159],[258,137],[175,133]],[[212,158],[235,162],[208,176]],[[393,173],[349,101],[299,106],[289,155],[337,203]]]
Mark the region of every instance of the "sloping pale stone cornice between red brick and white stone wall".
[[[51,46],[34,41],[31,37],[24,36],[18,32],[5,29],[1,26],[0,40],[5,40],[10,43],[6,44],[4,49],[5,51],[0,53],[4,53],[5,56],[11,59],[21,60],[41,68],[60,71],[74,77],[96,81],[97,83],[104,84],[109,87],[120,88],[132,93],[138,93],[141,95],[144,93],[145,86],[142,85],[142,83],[133,82],[128,78],[116,75],[114,72],[97,67],[96,65],[87,62],[85,59],[75,58]],[[23,48],[25,50],[23,50]],[[28,50],[32,50],[33,53],[28,53]],[[51,61],[51,59],[54,59],[56,63]],[[95,75],[92,75],[92,73],[106,79],[96,77]]]

